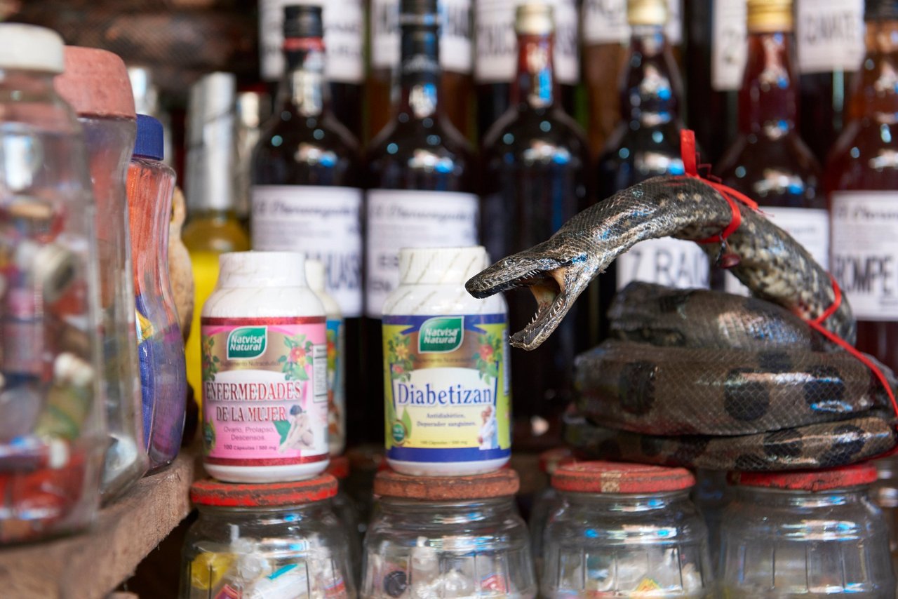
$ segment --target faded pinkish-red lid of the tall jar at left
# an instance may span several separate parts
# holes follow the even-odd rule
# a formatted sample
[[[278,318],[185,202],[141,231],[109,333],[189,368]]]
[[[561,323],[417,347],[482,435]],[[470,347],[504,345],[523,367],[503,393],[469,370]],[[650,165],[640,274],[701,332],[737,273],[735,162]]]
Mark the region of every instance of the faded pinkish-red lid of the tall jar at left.
[[[117,55],[97,48],[66,46],[66,70],[53,81],[79,117],[136,119],[128,69]]]

